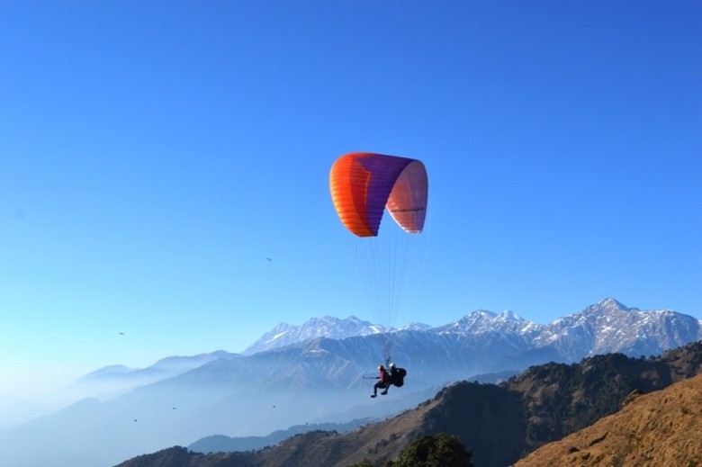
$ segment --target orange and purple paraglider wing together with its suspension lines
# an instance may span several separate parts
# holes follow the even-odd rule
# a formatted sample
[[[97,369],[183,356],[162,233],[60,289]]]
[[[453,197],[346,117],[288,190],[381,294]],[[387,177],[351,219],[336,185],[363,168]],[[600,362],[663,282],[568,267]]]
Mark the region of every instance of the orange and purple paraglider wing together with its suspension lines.
[[[426,246],[426,235],[413,234],[422,232],[427,216],[427,170],[417,159],[352,152],[331,166],[329,192],[339,220],[353,234],[349,239],[374,319],[393,327],[404,285],[421,269]],[[401,229],[380,229],[385,210]],[[382,350],[386,363],[390,334]]]

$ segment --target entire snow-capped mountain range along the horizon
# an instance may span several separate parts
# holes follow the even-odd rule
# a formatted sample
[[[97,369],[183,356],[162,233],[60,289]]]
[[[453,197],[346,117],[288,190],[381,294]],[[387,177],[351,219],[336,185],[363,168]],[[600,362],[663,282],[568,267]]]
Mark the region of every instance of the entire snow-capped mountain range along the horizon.
[[[412,323],[402,329],[383,328],[356,317],[310,319],[301,326],[281,323],[249,346],[244,355],[300,345],[315,338],[342,340],[350,337],[387,335],[396,340],[404,334],[426,333],[455,338],[499,340],[523,352],[550,349],[558,360],[574,362],[590,355],[621,352],[654,355],[702,338],[702,319],[672,310],[627,308],[608,298],[585,310],[541,325],[506,310],[500,314],[476,310],[453,323],[437,328]]]

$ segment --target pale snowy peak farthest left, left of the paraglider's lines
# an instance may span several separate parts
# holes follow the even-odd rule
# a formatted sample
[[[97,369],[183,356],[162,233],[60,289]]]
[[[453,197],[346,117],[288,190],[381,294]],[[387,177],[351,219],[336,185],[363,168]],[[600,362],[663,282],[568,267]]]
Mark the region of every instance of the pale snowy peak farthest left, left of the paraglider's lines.
[[[350,316],[347,319],[324,316],[309,319],[302,326],[291,326],[287,323],[281,323],[264,334],[254,344],[248,346],[243,354],[256,354],[264,350],[291,346],[319,337],[344,339],[347,337],[382,334],[393,330],[392,328],[384,328],[383,326],[357,319],[355,316]]]

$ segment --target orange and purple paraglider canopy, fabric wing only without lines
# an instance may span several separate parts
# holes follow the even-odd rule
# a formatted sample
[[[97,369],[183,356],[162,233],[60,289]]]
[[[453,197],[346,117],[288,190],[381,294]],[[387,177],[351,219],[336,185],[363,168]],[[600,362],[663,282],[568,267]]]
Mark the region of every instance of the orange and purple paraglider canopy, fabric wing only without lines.
[[[329,174],[331,200],[341,222],[358,237],[378,235],[383,210],[402,229],[419,233],[427,215],[427,170],[419,160],[354,152]]]

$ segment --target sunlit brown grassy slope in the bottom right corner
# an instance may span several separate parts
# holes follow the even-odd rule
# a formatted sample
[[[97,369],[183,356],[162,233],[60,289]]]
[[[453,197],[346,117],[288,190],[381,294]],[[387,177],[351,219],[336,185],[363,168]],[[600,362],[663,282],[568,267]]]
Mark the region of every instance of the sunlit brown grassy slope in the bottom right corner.
[[[637,397],[514,467],[702,466],[702,375]]]

